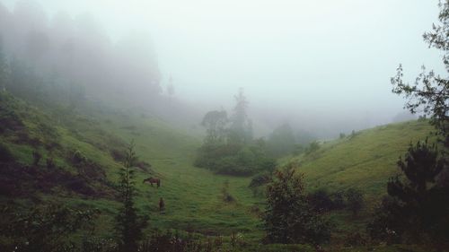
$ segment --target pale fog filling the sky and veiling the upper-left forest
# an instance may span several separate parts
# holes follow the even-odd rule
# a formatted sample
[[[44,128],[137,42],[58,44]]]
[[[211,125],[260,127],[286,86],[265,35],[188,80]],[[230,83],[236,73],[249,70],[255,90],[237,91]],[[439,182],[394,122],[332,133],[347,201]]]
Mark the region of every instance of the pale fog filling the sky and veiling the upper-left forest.
[[[163,100],[172,83],[173,109],[199,120],[243,88],[260,135],[289,122],[326,138],[404,118],[400,63],[410,81],[421,65],[445,74],[422,39],[437,13],[436,0],[0,0],[0,31],[12,54],[102,97]],[[40,32],[62,49],[21,46]]]

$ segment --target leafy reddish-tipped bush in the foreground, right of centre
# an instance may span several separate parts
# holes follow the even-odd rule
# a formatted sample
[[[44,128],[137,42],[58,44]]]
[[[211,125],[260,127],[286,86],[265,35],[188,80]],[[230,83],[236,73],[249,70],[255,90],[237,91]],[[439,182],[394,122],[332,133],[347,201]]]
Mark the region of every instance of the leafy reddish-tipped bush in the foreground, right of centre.
[[[330,224],[313,212],[304,193],[304,176],[295,164],[275,172],[267,187],[264,224],[267,241],[320,244],[330,239]]]

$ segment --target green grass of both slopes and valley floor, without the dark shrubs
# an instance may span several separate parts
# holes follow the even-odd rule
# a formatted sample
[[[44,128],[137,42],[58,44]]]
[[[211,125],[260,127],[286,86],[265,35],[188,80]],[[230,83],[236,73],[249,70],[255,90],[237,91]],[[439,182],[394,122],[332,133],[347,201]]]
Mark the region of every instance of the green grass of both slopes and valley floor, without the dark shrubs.
[[[145,116],[138,110],[111,112],[108,109],[90,109],[89,113],[78,112],[76,117],[70,117],[68,123],[60,123],[54,111],[34,108],[20,100],[3,97],[1,105],[15,111],[25,124],[23,130],[28,135],[42,138],[42,143],[50,141],[51,136],[41,132],[41,125],[51,126],[57,133],[60,147],[51,153],[45,148],[39,149],[44,158],[54,156],[58,166],[71,172],[75,170],[66,157],[77,150],[87,159],[101,164],[110,181],[117,181],[120,163],[114,161],[109,150],[134,140],[139,159],[149,162],[151,169],[162,179],[162,187],[159,188],[143,184],[142,180],[149,174],[136,169],[136,204],[139,213],[150,216],[147,231],[193,230],[204,235],[240,232],[253,241],[263,237],[260,218],[251,211],[254,206],[263,211],[263,199],[253,196],[248,187],[251,178],[216,175],[207,169],[193,167],[193,159],[201,143],[198,137],[187,135],[181,129],[169,126],[157,117]],[[339,241],[345,232],[365,229],[370,207],[385,194],[387,179],[399,171],[396,168],[398,157],[406,152],[410,142],[424,140],[431,131],[432,126],[428,122],[378,126],[360,131],[355,136],[322,143],[316,152],[285,157],[279,163],[298,162],[308,190],[325,188],[339,191],[357,187],[365,192],[369,207],[359,217],[353,218],[348,211],[329,214],[337,227],[334,240]],[[0,142],[6,144],[19,161],[31,163],[33,147],[17,141],[17,138],[18,133],[11,132],[1,135]],[[229,182],[234,202],[226,203],[221,198],[225,181]],[[44,201],[58,200],[78,207],[99,208],[102,214],[97,220],[98,233],[111,235],[113,215],[119,208],[118,202],[111,197],[79,196],[57,189],[54,194],[39,196]],[[165,201],[164,213],[159,213],[160,197]],[[7,200],[4,197],[0,199]]]

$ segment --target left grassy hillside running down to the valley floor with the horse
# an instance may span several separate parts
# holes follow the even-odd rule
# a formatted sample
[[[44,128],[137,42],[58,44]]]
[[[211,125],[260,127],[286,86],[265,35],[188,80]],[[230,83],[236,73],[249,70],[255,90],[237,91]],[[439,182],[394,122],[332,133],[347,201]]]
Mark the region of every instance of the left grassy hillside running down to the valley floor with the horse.
[[[112,227],[112,215],[119,207],[113,184],[118,180],[121,165],[111,153],[124,152],[126,144],[134,140],[139,160],[151,164],[150,168],[136,169],[137,207],[140,213],[150,216],[150,229],[193,230],[209,235],[247,232],[249,236],[260,237],[260,221],[251,213],[251,206],[260,199],[252,197],[248,188],[250,178],[217,176],[194,168],[192,160],[200,140],[160,119],[137,109],[118,111],[89,103],[77,109],[34,107],[5,93],[0,106],[2,120],[11,125],[4,124],[0,142],[21,163],[20,169],[33,167],[32,152],[37,150],[42,154],[37,168],[42,174],[48,171],[46,160],[50,156],[57,170],[70,174],[67,178],[70,181],[59,179],[51,185],[34,185],[30,178],[25,181],[29,185],[26,191],[5,188],[4,202],[9,196],[15,196],[16,202],[37,197],[40,201],[58,200],[74,206],[96,207],[103,213],[98,223],[100,232],[110,235],[105,230]],[[105,179],[97,181],[83,176],[72,161],[75,152],[81,152],[100,168]],[[143,184],[143,179],[150,175],[162,178],[162,187]],[[85,187],[98,193],[75,191],[70,185],[80,177],[85,178],[82,179]],[[3,179],[15,183],[15,178],[5,175]],[[225,181],[229,181],[229,191],[236,199],[233,203],[225,203],[221,198]],[[158,209],[160,197],[165,201],[164,214]]]

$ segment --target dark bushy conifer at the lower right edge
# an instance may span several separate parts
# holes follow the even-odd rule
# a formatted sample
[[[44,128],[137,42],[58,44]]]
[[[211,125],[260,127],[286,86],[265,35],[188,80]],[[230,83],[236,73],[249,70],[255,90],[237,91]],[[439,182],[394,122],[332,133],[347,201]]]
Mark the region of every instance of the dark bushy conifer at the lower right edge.
[[[397,176],[388,182],[389,198],[383,200],[368,226],[372,236],[388,238],[387,232],[393,232],[414,241],[427,235],[449,242],[449,187],[435,183],[444,166],[436,145],[427,141],[410,144],[405,160],[400,158],[398,166],[405,178]]]

